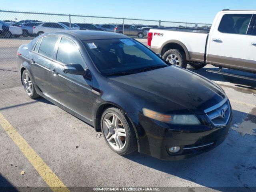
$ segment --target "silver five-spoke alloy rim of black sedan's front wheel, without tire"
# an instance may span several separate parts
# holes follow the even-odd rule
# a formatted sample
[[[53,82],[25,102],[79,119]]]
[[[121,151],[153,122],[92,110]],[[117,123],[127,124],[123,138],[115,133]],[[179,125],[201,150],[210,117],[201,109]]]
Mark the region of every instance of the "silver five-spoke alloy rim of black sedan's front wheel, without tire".
[[[108,113],[103,119],[103,134],[114,150],[122,150],[126,144],[126,131],[123,123],[114,113]]]

